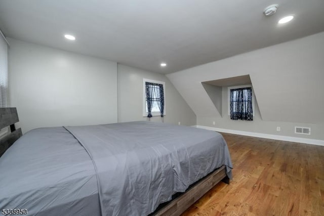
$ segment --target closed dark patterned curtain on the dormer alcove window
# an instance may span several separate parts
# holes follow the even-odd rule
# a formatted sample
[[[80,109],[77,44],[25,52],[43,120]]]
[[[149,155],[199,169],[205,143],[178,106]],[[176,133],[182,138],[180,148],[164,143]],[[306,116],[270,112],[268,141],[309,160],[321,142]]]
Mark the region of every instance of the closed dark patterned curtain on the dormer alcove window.
[[[230,112],[233,120],[253,121],[251,87],[231,89]]]

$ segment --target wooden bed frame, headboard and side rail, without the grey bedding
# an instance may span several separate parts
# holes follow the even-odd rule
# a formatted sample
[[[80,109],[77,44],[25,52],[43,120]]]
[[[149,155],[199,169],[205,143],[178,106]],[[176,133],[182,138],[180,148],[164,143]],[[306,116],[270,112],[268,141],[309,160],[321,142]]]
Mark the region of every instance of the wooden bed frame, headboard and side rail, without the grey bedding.
[[[19,119],[15,107],[0,108],[0,129],[10,126],[11,132],[0,137],[0,157],[22,136],[21,129],[16,129],[15,127],[17,122],[19,122]],[[192,184],[186,192],[175,194],[171,201],[160,204],[150,215],[180,215],[221,181],[229,184],[225,165]]]

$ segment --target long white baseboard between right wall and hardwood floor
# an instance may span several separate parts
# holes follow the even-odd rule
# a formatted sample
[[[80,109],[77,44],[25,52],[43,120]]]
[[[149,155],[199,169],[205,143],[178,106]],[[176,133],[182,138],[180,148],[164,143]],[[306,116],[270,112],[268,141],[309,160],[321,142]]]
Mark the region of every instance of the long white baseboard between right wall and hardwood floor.
[[[274,135],[274,134],[266,134],[266,133],[255,133],[255,132],[248,132],[248,131],[241,131],[241,130],[230,130],[230,129],[223,129],[223,128],[217,128],[217,127],[208,127],[208,126],[202,126],[202,125],[194,125],[192,127],[202,128],[206,130],[213,130],[223,133],[232,133],[232,134],[238,134],[238,135],[244,135],[244,136],[254,136],[254,137],[260,137],[260,138],[266,138],[266,139],[276,139],[276,140],[282,140],[282,141],[290,141],[290,142],[301,142],[311,145],[317,145],[317,146],[324,146],[324,140],[320,139],[308,139],[308,138],[301,138],[301,137],[293,137],[293,136],[281,136],[281,135]]]

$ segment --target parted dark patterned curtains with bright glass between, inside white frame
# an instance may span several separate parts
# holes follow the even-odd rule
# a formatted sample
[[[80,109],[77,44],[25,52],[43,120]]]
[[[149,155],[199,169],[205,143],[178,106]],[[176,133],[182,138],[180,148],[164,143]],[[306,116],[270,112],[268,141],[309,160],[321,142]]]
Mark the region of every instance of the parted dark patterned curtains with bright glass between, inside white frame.
[[[164,116],[164,89],[163,84],[145,82],[146,104],[148,118],[152,117],[153,107],[158,107],[161,117]]]

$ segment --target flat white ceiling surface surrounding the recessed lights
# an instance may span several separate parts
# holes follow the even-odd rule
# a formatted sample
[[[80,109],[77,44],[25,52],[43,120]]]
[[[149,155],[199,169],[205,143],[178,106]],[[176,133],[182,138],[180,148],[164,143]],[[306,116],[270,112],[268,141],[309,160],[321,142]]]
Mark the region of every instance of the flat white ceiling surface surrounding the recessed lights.
[[[271,4],[278,11],[265,17]],[[323,12],[323,0],[15,0],[0,1],[0,28],[7,37],[167,74],[323,31]],[[292,22],[277,24],[290,14]]]

